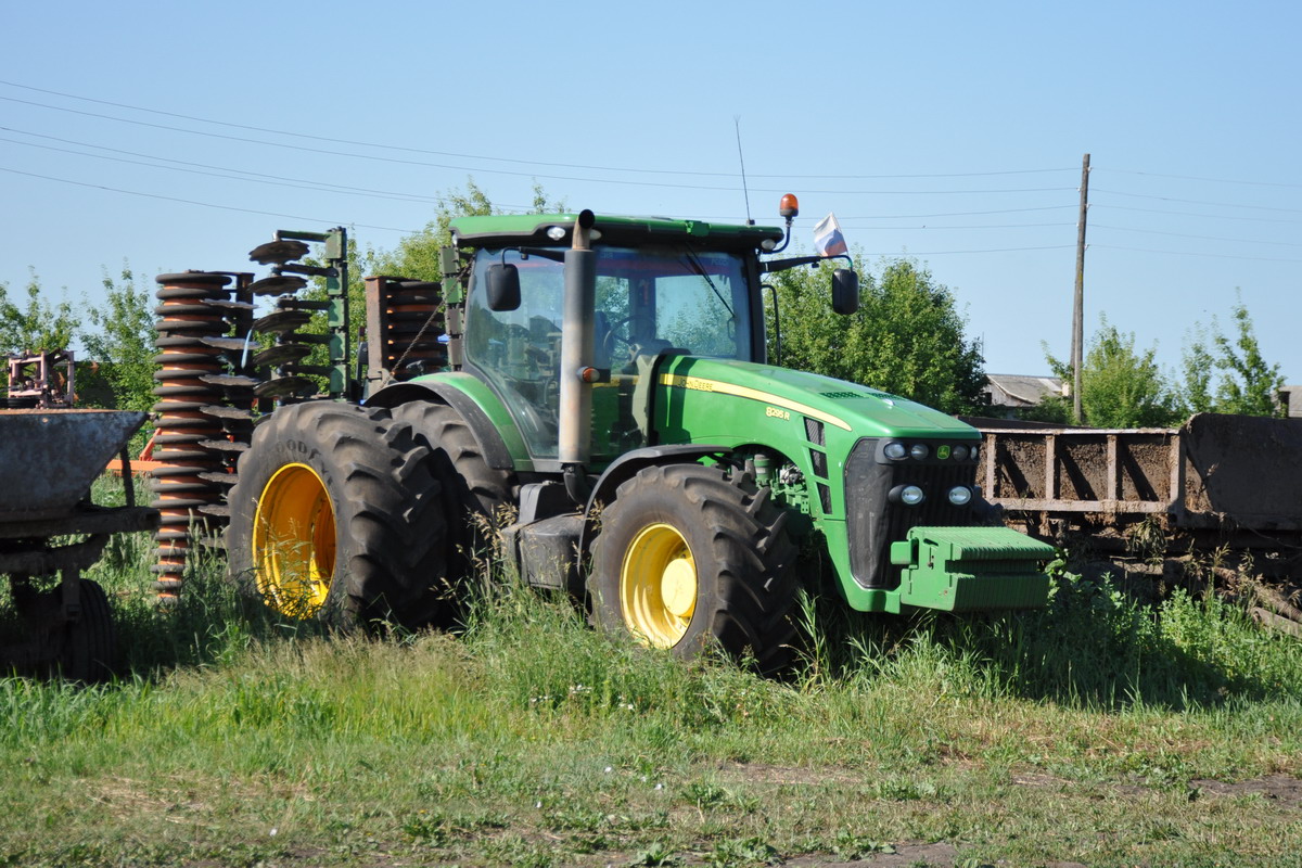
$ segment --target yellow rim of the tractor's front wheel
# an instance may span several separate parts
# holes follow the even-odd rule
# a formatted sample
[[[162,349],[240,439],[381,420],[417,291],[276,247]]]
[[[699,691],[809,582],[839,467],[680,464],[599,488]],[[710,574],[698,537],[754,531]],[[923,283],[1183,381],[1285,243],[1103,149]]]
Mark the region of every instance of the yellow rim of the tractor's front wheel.
[[[620,567],[620,608],[629,630],[656,648],[672,648],[691,623],[697,590],[697,562],[682,534],[663,523],[638,531]]]

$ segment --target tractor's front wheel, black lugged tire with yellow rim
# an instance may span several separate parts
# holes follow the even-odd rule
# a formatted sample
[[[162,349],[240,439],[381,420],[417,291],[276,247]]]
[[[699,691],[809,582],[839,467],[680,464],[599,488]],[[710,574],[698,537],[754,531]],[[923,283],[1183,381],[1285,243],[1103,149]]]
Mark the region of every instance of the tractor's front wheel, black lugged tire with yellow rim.
[[[599,518],[592,617],[684,658],[717,644],[733,657],[750,653],[762,671],[781,669],[799,591],[785,524],[786,513],[749,474],[647,467]]]

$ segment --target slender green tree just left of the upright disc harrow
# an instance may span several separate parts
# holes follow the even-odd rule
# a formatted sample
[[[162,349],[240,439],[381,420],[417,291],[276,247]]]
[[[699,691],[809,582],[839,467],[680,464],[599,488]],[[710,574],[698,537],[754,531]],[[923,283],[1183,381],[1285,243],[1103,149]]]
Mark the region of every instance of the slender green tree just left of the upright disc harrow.
[[[137,285],[130,265],[122,264],[117,281],[104,272],[104,303],[87,305],[94,331],[81,333],[86,357],[99,364],[113,405],[121,410],[148,410],[154,403],[158,354],[150,292]]]

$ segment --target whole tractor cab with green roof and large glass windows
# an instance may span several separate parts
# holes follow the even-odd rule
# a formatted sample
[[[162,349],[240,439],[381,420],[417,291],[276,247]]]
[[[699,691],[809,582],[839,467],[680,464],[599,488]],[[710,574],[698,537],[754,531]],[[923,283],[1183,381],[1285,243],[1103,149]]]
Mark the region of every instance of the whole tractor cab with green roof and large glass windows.
[[[464,370],[514,418],[535,467],[560,459],[565,254],[577,215],[465,217],[473,243]],[[716,232],[708,224],[607,217],[591,230],[592,305],[574,334],[591,332],[590,453],[594,468],[648,445],[638,383],[656,360],[690,355],[764,359],[758,251],[781,230]]]

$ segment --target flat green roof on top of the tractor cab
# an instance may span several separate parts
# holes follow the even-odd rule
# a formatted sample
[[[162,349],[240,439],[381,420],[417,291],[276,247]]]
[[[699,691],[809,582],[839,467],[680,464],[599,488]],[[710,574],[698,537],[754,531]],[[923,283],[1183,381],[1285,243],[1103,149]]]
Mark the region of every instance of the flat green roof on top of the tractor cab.
[[[538,245],[555,247],[570,243],[577,213],[513,213],[480,217],[458,217],[452,221],[452,236],[458,245],[493,247],[497,245]],[[547,230],[560,226],[565,234],[549,238]],[[697,241],[717,247],[758,249],[762,241],[780,242],[777,226],[747,226],[704,220],[671,220],[668,217],[603,217],[592,226],[600,233],[598,245],[638,246],[664,241]]]

